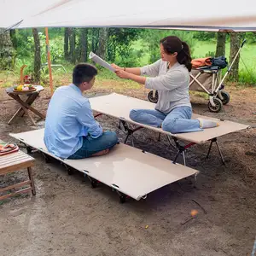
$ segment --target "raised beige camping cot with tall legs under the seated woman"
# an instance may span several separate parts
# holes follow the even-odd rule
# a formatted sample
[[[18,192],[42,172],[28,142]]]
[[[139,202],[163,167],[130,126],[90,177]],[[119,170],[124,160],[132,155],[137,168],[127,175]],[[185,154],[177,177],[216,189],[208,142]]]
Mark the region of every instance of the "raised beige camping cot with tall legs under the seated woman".
[[[181,154],[183,156],[184,165],[186,165],[185,151],[191,146],[195,144],[210,142],[210,146],[207,154],[207,157],[208,157],[212,148],[212,143],[216,143],[218,147],[218,141],[217,141],[218,137],[226,135],[231,132],[240,131],[240,130],[249,128],[248,125],[242,125],[236,122],[231,122],[229,120],[214,119],[214,120],[218,120],[219,122],[218,127],[205,129],[204,131],[172,134],[168,131],[163,131],[161,128],[138,124],[137,122],[134,122],[133,120],[130,119],[129,115],[132,108],[154,109],[155,104],[152,102],[143,101],[130,96],[124,96],[124,95],[113,93],[107,96],[91,97],[90,105],[91,105],[91,108],[98,113],[96,114],[96,116],[99,116],[101,114],[106,114],[113,118],[119,119],[119,127],[120,125],[123,125],[127,133],[125,143],[127,142],[128,137],[131,136],[131,139],[132,139],[133,133],[142,128],[148,128],[152,131],[158,132],[159,134],[161,133],[166,134],[169,141],[170,141],[170,138],[172,138],[177,147],[177,155],[173,160],[173,162],[176,163],[177,157]],[[192,119],[195,119],[197,117],[210,119],[209,117],[201,116],[198,114],[193,114]],[[131,125],[137,125],[137,127],[131,128]],[[189,143],[186,145],[182,145],[182,143],[180,143],[178,140],[183,142],[189,142]],[[224,157],[219,147],[218,147],[218,152],[220,154],[222,162],[224,163]]]

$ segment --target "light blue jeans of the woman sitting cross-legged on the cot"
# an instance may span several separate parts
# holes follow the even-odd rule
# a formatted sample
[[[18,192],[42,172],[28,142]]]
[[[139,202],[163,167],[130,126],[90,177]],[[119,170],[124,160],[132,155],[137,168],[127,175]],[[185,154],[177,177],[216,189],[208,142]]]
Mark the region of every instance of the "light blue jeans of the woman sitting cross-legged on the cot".
[[[170,113],[162,113],[154,109],[132,109],[130,119],[143,125],[162,127],[164,131],[172,134],[203,131],[200,128],[199,120],[191,119],[192,108],[177,107]]]

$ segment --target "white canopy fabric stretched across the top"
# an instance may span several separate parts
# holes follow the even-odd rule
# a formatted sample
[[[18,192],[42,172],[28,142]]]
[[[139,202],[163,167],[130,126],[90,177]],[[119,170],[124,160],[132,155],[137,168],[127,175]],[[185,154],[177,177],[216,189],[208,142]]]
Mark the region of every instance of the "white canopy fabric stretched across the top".
[[[256,31],[255,0],[0,0],[0,11],[0,27],[5,28],[108,26]]]

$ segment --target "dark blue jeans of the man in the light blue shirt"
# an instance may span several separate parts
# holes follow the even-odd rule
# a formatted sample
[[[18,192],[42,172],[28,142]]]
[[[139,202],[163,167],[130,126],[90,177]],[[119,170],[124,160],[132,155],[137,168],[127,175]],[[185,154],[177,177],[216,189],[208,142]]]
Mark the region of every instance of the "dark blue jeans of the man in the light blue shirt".
[[[92,138],[90,136],[83,137],[83,145],[77,152],[69,156],[68,159],[88,158],[92,154],[96,154],[105,149],[111,149],[118,143],[118,137],[113,131],[103,132],[101,137]]]

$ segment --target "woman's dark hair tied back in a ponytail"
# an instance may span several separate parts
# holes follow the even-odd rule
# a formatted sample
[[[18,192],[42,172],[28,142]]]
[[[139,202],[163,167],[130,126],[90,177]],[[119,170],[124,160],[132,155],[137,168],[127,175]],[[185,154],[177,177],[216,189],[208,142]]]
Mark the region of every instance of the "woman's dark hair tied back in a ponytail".
[[[183,41],[181,41],[180,38],[177,38],[175,36],[169,36],[166,38],[162,38],[160,40],[160,44],[163,45],[166,54],[173,54],[177,52],[177,62],[179,64],[185,65],[185,67],[188,68],[189,72],[192,69],[191,64],[191,56],[189,51],[189,45]]]

